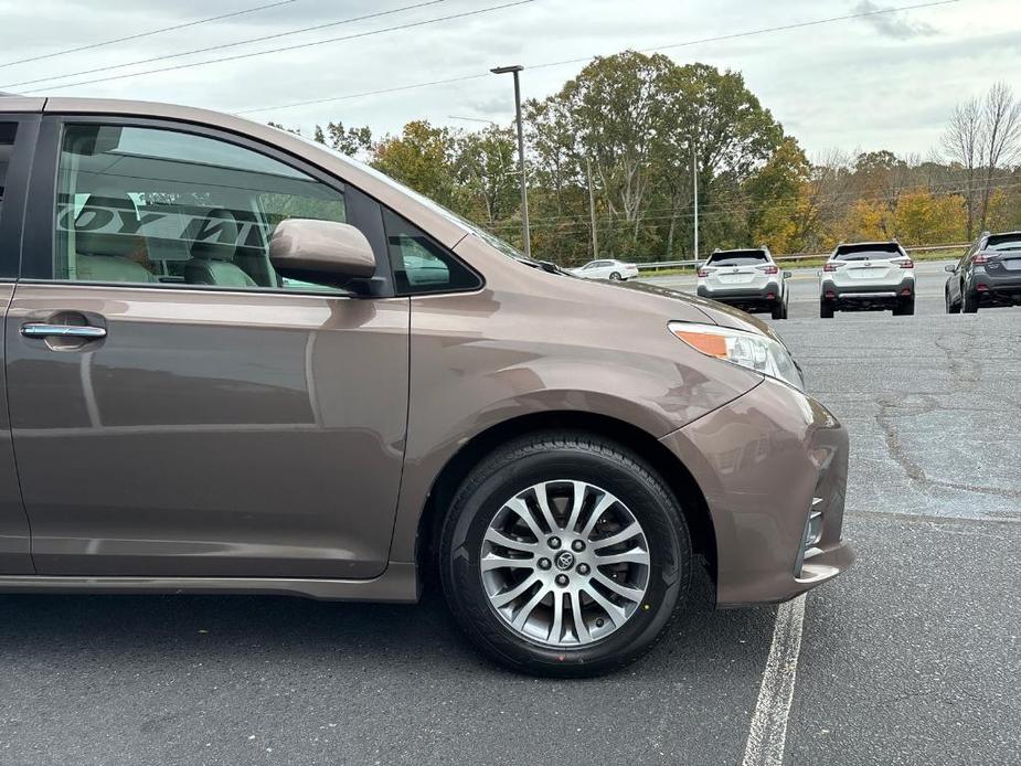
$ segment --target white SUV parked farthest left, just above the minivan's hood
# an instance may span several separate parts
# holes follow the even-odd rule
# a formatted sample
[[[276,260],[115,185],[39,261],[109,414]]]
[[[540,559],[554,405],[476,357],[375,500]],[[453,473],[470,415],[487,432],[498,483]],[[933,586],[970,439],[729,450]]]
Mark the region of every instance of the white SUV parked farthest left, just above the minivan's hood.
[[[787,279],[768,247],[715,251],[699,268],[698,294],[749,313],[787,319]]]

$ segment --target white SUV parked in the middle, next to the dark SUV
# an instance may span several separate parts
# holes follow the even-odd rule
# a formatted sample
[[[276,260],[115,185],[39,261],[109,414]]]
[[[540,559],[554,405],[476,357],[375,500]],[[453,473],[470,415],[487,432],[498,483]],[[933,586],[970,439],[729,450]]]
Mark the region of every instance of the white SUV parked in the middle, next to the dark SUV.
[[[819,316],[834,311],[915,312],[915,264],[898,242],[840,244],[819,273]]]

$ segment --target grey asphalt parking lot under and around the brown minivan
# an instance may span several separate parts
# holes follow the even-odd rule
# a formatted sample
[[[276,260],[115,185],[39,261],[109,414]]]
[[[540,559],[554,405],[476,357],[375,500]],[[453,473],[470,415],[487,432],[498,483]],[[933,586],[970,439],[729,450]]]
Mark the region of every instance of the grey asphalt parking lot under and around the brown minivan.
[[[1021,309],[946,316],[929,270],[915,317],[820,321],[797,278],[776,322],[851,432],[859,554],[805,602],[787,764],[1021,753]],[[0,764],[741,764],[777,609],[695,586],[644,661],[573,682],[480,659],[435,594],[0,596]]]

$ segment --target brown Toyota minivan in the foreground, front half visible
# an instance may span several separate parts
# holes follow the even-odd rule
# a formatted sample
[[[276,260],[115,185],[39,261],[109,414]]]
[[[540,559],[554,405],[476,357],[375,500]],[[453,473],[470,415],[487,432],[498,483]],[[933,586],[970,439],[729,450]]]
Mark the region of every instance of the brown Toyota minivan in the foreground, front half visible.
[[[848,439],[765,325],[525,259],[200,109],[0,98],[0,591],[414,602],[636,658],[852,560]]]

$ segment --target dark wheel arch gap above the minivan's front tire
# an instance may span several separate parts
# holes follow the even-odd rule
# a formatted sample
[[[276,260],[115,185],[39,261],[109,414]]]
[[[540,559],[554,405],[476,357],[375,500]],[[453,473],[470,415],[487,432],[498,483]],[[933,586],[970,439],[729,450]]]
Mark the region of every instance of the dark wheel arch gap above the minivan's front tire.
[[[648,461],[678,500],[691,534],[692,549],[704,557],[716,582],[716,534],[705,496],[691,471],[655,436],[638,426],[607,415],[577,411],[529,413],[493,424],[461,445],[433,481],[418,518],[415,561],[426,584],[436,582],[439,532],[457,488],[468,472],[501,444],[527,434],[582,430],[616,441]]]

